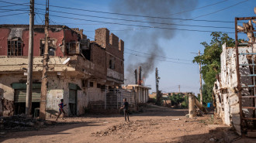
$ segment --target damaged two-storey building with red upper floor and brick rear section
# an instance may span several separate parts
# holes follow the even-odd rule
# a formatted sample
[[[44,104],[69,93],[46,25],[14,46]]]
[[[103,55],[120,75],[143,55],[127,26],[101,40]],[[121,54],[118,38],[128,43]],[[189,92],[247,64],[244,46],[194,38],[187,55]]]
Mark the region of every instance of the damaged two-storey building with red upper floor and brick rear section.
[[[90,102],[106,101],[109,89],[123,84],[124,43],[108,29],[96,29],[95,41],[67,26],[50,26],[49,36],[47,117],[61,99],[68,114],[84,114]],[[35,26],[33,113],[40,107],[44,41],[43,26]],[[0,25],[0,116],[25,113],[28,48],[28,25]]]

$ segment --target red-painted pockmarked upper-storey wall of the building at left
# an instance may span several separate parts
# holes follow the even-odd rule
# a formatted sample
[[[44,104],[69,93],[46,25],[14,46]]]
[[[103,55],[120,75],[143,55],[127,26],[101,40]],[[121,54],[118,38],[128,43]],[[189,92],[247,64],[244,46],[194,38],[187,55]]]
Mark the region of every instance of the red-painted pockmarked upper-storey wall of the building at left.
[[[17,56],[9,54],[9,45],[12,41],[21,42],[21,55],[28,56],[29,50],[29,26],[28,25],[0,25],[0,56]],[[68,35],[68,32],[67,34]],[[54,56],[64,56],[64,28],[62,26],[50,26],[50,44],[54,46]],[[36,25],[34,28],[33,56],[41,56],[42,46],[45,39],[43,26]]]

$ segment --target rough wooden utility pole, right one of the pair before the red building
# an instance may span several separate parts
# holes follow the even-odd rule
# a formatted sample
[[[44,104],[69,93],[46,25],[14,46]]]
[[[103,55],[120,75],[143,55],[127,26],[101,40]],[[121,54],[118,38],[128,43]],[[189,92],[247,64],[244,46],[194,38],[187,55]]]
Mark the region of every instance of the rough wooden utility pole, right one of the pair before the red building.
[[[40,100],[40,119],[46,118],[46,107],[47,107],[47,70],[48,70],[48,43],[49,43],[49,0],[46,3],[45,12],[45,42],[44,42],[44,53],[43,53],[43,73],[42,73],[42,85],[41,85],[41,100]]]

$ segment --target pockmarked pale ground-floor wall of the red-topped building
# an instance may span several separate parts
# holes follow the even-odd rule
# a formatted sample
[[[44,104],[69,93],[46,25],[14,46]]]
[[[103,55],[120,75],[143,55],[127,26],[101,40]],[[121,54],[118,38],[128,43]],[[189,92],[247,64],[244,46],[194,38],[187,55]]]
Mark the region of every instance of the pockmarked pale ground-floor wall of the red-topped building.
[[[64,73],[49,73],[48,77],[48,89],[47,89],[47,117],[56,117],[56,114],[59,110],[58,104],[60,104],[61,99],[64,99],[64,104],[67,104],[66,107],[64,107],[64,111],[66,111],[67,114],[71,115],[80,115],[85,113],[85,107],[88,105],[88,93],[86,93],[85,88],[81,88],[82,81],[81,79],[78,79],[76,77],[69,77],[67,74],[65,76],[57,76],[57,74]],[[4,77],[4,78],[3,78]],[[33,87],[35,84],[40,85],[40,77],[41,73],[33,73]],[[13,87],[13,85],[19,85],[22,88]],[[75,113],[71,112],[71,87],[70,84],[74,84],[76,87],[75,89]],[[24,88],[25,85],[25,88]],[[3,104],[1,105],[2,109],[0,108],[0,113],[3,116],[12,116],[13,114],[22,114],[25,110],[23,109],[25,107],[24,97],[26,97],[26,76],[24,74],[5,74],[4,76],[0,77],[0,89],[2,90],[2,94],[0,95],[3,99]],[[24,91],[24,92],[22,92]],[[17,94],[21,93],[19,98],[22,99],[16,99]],[[33,99],[35,92],[39,92],[37,94],[40,95],[40,89],[33,88]],[[40,99],[39,99],[40,100]],[[33,103],[38,102],[36,107],[39,107],[40,101],[33,100]],[[17,107],[19,106],[19,107]],[[35,113],[35,108],[33,107],[32,114]],[[22,111],[20,109],[22,108]]]

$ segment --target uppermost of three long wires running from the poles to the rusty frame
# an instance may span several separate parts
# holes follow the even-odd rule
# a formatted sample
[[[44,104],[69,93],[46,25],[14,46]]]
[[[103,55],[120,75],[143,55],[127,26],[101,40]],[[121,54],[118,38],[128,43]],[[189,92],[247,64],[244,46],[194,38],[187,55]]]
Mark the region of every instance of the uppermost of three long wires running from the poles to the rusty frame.
[[[36,5],[44,5],[44,4],[36,3]],[[144,18],[152,18],[152,19],[172,19],[172,20],[186,20],[186,21],[197,21],[197,22],[228,22],[228,23],[234,23],[234,22],[220,21],[220,20],[179,19],[179,18],[158,17],[158,16],[149,16],[149,15],[132,15],[132,14],[124,14],[124,13],[116,13],[116,12],[101,12],[101,11],[95,11],[95,10],[76,9],[76,8],[70,8],[70,7],[64,7],[64,6],[57,6],[57,5],[50,5],[50,6],[55,7],[55,8],[61,8],[61,9],[72,9],[72,10],[85,11],[85,12],[97,12],[97,13],[105,13],[105,14],[111,14],[111,15],[126,15],[126,16],[144,17]]]

